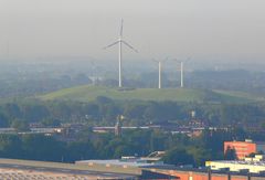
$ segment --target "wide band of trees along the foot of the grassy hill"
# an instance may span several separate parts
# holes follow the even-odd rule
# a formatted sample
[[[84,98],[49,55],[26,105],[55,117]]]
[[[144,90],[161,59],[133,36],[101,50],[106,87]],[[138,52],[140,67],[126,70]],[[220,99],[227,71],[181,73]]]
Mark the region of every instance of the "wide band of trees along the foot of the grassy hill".
[[[265,104],[197,104],[177,102],[113,100],[97,97],[89,103],[38,99],[13,100],[0,105],[0,127],[9,127],[13,120],[87,123],[114,125],[118,115],[124,115],[125,125],[183,124],[191,118],[209,126],[264,127]]]

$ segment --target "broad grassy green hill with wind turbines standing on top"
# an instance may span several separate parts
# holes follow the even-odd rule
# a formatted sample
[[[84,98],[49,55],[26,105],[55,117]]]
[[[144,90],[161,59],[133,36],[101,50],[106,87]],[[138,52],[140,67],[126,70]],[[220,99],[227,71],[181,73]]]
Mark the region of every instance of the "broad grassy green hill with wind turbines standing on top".
[[[103,86],[77,86],[40,96],[41,99],[70,99],[80,102],[94,100],[98,96],[113,99],[176,100],[176,102],[212,102],[247,103],[258,98],[241,92],[205,91],[191,88],[114,88]]]

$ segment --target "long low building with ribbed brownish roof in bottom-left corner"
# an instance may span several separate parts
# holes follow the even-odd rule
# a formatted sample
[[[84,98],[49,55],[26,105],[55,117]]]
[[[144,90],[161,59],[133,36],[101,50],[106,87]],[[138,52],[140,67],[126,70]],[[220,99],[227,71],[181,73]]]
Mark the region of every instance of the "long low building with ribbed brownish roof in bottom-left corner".
[[[140,176],[140,174],[139,174]],[[0,179],[12,180],[87,180],[87,179],[134,179],[138,174],[130,174],[126,171],[104,172],[94,171],[88,167],[74,163],[44,162],[32,160],[0,159]]]

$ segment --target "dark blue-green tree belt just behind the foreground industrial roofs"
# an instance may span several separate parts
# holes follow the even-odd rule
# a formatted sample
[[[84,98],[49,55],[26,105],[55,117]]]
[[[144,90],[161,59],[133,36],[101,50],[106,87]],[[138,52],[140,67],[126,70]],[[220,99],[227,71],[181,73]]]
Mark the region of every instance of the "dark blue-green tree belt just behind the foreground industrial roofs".
[[[0,157],[73,162],[121,156],[142,157],[167,150],[163,160],[168,163],[203,166],[205,160],[224,158],[224,140],[244,139],[246,136],[241,130],[205,130],[195,138],[159,130],[127,130],[117,137],[84,130],[75,141],[66,142],[43,135],[0,135]]]

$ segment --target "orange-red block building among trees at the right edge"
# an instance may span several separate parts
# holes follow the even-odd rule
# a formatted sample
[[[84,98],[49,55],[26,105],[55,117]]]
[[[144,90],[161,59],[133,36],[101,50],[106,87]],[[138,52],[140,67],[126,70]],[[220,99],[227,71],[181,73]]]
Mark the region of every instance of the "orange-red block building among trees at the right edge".
[[[245,141],[225,141],[224,153],[227,149],[234,149],[237,159],[241,160],[250,153],[265,152],[265,142],[253,142],[251,139],[246,139]]]

